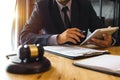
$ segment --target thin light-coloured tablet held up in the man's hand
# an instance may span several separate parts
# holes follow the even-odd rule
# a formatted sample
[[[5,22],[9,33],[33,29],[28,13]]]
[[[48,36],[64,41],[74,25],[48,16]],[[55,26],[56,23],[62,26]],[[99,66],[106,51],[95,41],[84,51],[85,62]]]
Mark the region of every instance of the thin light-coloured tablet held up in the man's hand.
[[[91,38],[103,39],[102,34],[106,33],[108,35],[112,35],[115,31],[117,31],[119,27],[108,27],[108,28],[101,28],[96,29],[92,34],[90,34],[80,45],[85,44]]]

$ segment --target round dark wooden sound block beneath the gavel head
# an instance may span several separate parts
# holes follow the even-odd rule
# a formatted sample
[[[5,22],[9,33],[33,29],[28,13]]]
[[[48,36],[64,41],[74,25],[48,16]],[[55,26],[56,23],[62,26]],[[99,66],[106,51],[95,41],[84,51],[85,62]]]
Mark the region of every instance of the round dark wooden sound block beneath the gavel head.
[[[14,60],[16,60],[14,58]],[[10,61],[6,71],[14,74],[34,74],[41,73],[49,70],[51,67],[50,61],[43,57],[40,61],[29,63],[17,63],[16,61]]]

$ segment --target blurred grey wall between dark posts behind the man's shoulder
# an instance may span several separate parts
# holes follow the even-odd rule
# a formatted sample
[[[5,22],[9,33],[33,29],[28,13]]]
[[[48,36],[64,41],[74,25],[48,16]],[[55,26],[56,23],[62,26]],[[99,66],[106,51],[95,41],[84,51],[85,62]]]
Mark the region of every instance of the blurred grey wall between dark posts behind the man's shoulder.
[[[100,0],[91,0],[92,5],[97,13],[100,15]],[[102,16],[105,18],[106,25],[113,25],[114,18],[114,2],[111,0],[103,0],[102,2]]]

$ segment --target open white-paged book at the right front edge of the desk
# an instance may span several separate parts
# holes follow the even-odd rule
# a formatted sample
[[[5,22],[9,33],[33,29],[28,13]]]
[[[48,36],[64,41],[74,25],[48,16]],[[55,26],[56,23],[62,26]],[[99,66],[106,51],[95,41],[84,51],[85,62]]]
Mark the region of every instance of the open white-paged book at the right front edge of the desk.
[[[120,56],[104,54],[74,61],[75,66],[120,76]]]

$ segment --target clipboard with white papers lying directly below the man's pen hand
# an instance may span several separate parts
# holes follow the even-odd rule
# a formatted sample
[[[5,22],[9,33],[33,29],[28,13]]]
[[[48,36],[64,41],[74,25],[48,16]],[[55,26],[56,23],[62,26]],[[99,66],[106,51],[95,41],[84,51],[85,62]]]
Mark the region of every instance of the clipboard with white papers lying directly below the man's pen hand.
[[[70,59],[79,59],[109,53],[108,50],[96,50],[72,45],[44,46],[44,49],[50,53]]]

